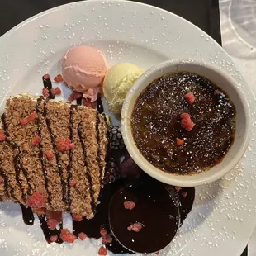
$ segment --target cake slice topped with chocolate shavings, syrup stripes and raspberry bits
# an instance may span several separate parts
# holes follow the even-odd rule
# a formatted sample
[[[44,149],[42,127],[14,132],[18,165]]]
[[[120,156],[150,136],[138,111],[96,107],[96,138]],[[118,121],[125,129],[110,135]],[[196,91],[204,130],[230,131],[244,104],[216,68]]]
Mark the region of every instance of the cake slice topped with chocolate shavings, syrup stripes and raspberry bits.
[[[0,197],[91,219],[104,178],[108,119],[96,110],[19,95],[7,100]]]

